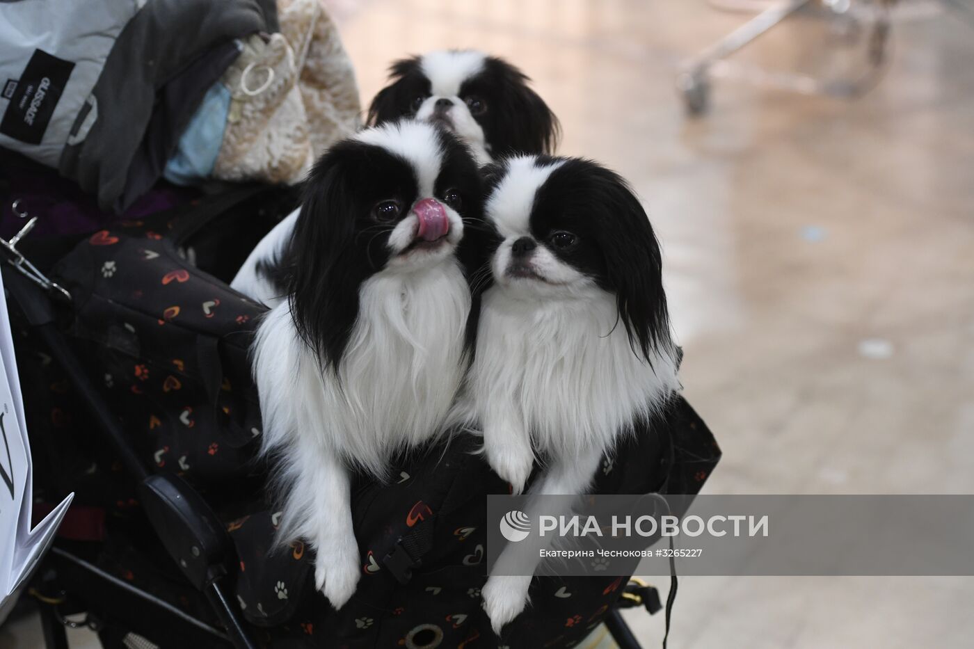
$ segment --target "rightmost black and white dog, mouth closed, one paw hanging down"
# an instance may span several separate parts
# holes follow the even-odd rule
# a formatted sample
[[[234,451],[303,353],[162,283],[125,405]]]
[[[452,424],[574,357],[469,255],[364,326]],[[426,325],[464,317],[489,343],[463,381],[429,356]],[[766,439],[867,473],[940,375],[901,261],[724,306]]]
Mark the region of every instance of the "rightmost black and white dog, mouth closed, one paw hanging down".
[[[536,459],[531,493],[583,493],[602,456],[679,388],[656,236],[626,183],[586,160],[513,157],[488,168],[488,185],[493,286],[461,407],[515,493]],[[489,578],[495,630],[530,584]]]

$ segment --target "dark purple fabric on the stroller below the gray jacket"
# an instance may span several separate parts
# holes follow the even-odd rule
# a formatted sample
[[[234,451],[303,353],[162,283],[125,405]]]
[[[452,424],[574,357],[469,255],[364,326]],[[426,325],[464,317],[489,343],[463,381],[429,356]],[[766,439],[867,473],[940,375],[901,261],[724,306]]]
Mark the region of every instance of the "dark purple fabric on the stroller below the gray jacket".
[[[0,237],[4,239],[16,234],[25,222],[13,210],[18,199],[19,212],[26,210],[31,216],[40,217],[30,234],[31,239],[35,239],[93,232],[123,219],[169,210],[200,195],[199,190],[160,181],[120,216],[99,210],[97,199],[82,191],[73,180],[23,158],[12,158],[13,155],[0,151],[0,200],[3,202],[0,205]]]

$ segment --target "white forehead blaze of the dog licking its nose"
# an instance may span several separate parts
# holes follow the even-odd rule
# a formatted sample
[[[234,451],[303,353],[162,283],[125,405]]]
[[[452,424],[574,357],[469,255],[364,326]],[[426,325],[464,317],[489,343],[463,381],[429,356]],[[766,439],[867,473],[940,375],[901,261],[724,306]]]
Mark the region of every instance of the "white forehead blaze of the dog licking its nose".
[[[443,147],[435,127],[423,122],[391,122],[360,131],[354,139],[405,159],[416,172],[420,198],[432,196],[443,162]]]

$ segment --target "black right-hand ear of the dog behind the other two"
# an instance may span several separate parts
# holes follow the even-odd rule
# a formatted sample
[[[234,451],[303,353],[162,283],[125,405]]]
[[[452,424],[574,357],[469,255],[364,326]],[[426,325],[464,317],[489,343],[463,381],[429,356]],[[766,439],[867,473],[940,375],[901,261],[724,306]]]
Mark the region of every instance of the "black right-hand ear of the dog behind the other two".
[[[528,87],[531,79],[510,63],[492,58],[492,64],[503,71],[506,115],[510,116],[505,134],[509,152],[554,153],[561,135],[561,125],[538,93]]]

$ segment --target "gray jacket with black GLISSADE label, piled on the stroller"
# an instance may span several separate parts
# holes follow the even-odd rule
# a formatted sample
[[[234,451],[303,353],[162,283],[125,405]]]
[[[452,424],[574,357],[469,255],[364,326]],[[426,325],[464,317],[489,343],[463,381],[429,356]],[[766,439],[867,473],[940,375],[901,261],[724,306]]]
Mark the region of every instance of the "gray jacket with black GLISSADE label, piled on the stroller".
[[[124,210],[237,56],[234,39],[277,30],[274,0],[0,2],[0,147]]]

